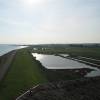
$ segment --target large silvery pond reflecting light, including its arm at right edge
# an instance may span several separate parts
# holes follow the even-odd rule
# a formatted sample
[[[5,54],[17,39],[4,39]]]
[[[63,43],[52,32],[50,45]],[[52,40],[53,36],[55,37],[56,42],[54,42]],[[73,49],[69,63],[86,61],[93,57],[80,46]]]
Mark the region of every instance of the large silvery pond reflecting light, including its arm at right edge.
[[[96,67],[92,67],[77,61],[73,61],[70,59],[65,59],[55,55],[44,55],[44,54],[37,54],[32,53],[37,60],[39,60],[42,65],[47,69],[80,69],[80,68],[89,68],[93,69],[86,75],[86,77],[92,76],[100,76],[100,70]]]

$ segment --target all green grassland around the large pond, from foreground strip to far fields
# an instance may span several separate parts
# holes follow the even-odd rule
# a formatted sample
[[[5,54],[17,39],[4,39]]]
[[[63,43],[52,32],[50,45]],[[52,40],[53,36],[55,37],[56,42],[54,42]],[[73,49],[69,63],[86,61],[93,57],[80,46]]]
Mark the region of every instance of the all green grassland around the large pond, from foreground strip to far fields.
[[[34,50],[33,48],[37,49]],[[45,54],[66,53],[73,57],[86,56],[100,59],[100,47],[40,45],[18,50],[8,73],[0,83],[0,100],[14,100],[37,84],[62,79],[77,79],[84,76],[80,72],[90,71],[89,69],[79,69],[79,73],[76,73],[76,70],[45,69],[39,61],[33,58],[31,52]]]

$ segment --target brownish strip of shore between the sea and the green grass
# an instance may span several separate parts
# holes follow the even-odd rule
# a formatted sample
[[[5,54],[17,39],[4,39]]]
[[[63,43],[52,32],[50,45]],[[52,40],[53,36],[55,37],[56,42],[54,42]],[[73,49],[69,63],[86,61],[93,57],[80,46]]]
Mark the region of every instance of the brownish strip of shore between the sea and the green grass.
[[[0,81],[3,79],[4,75],[6,74],[10,64],[16,54],[16,50],[11,51],[4,56],[0,57]]]

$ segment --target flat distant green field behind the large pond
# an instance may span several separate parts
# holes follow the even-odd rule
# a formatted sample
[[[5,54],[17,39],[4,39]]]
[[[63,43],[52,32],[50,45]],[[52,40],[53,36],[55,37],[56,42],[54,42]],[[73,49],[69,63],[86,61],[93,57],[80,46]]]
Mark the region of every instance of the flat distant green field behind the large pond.
[[[38,50],[33,50],[33,52],[46,54],[67,53],[72,56],[86,56],[100,59],[100,48],[94,47],[39,48]]]

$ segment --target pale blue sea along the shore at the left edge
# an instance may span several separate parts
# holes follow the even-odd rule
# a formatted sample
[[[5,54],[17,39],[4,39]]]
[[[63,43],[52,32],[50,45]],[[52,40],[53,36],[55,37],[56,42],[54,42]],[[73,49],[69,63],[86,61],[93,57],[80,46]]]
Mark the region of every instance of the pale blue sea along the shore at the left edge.
[[[20,48],[24,48],[26,46],[18,46],[18,45],[6,45],[6,44],[0,44],[0,56],[15,50],[15,49],[20,49]]]

